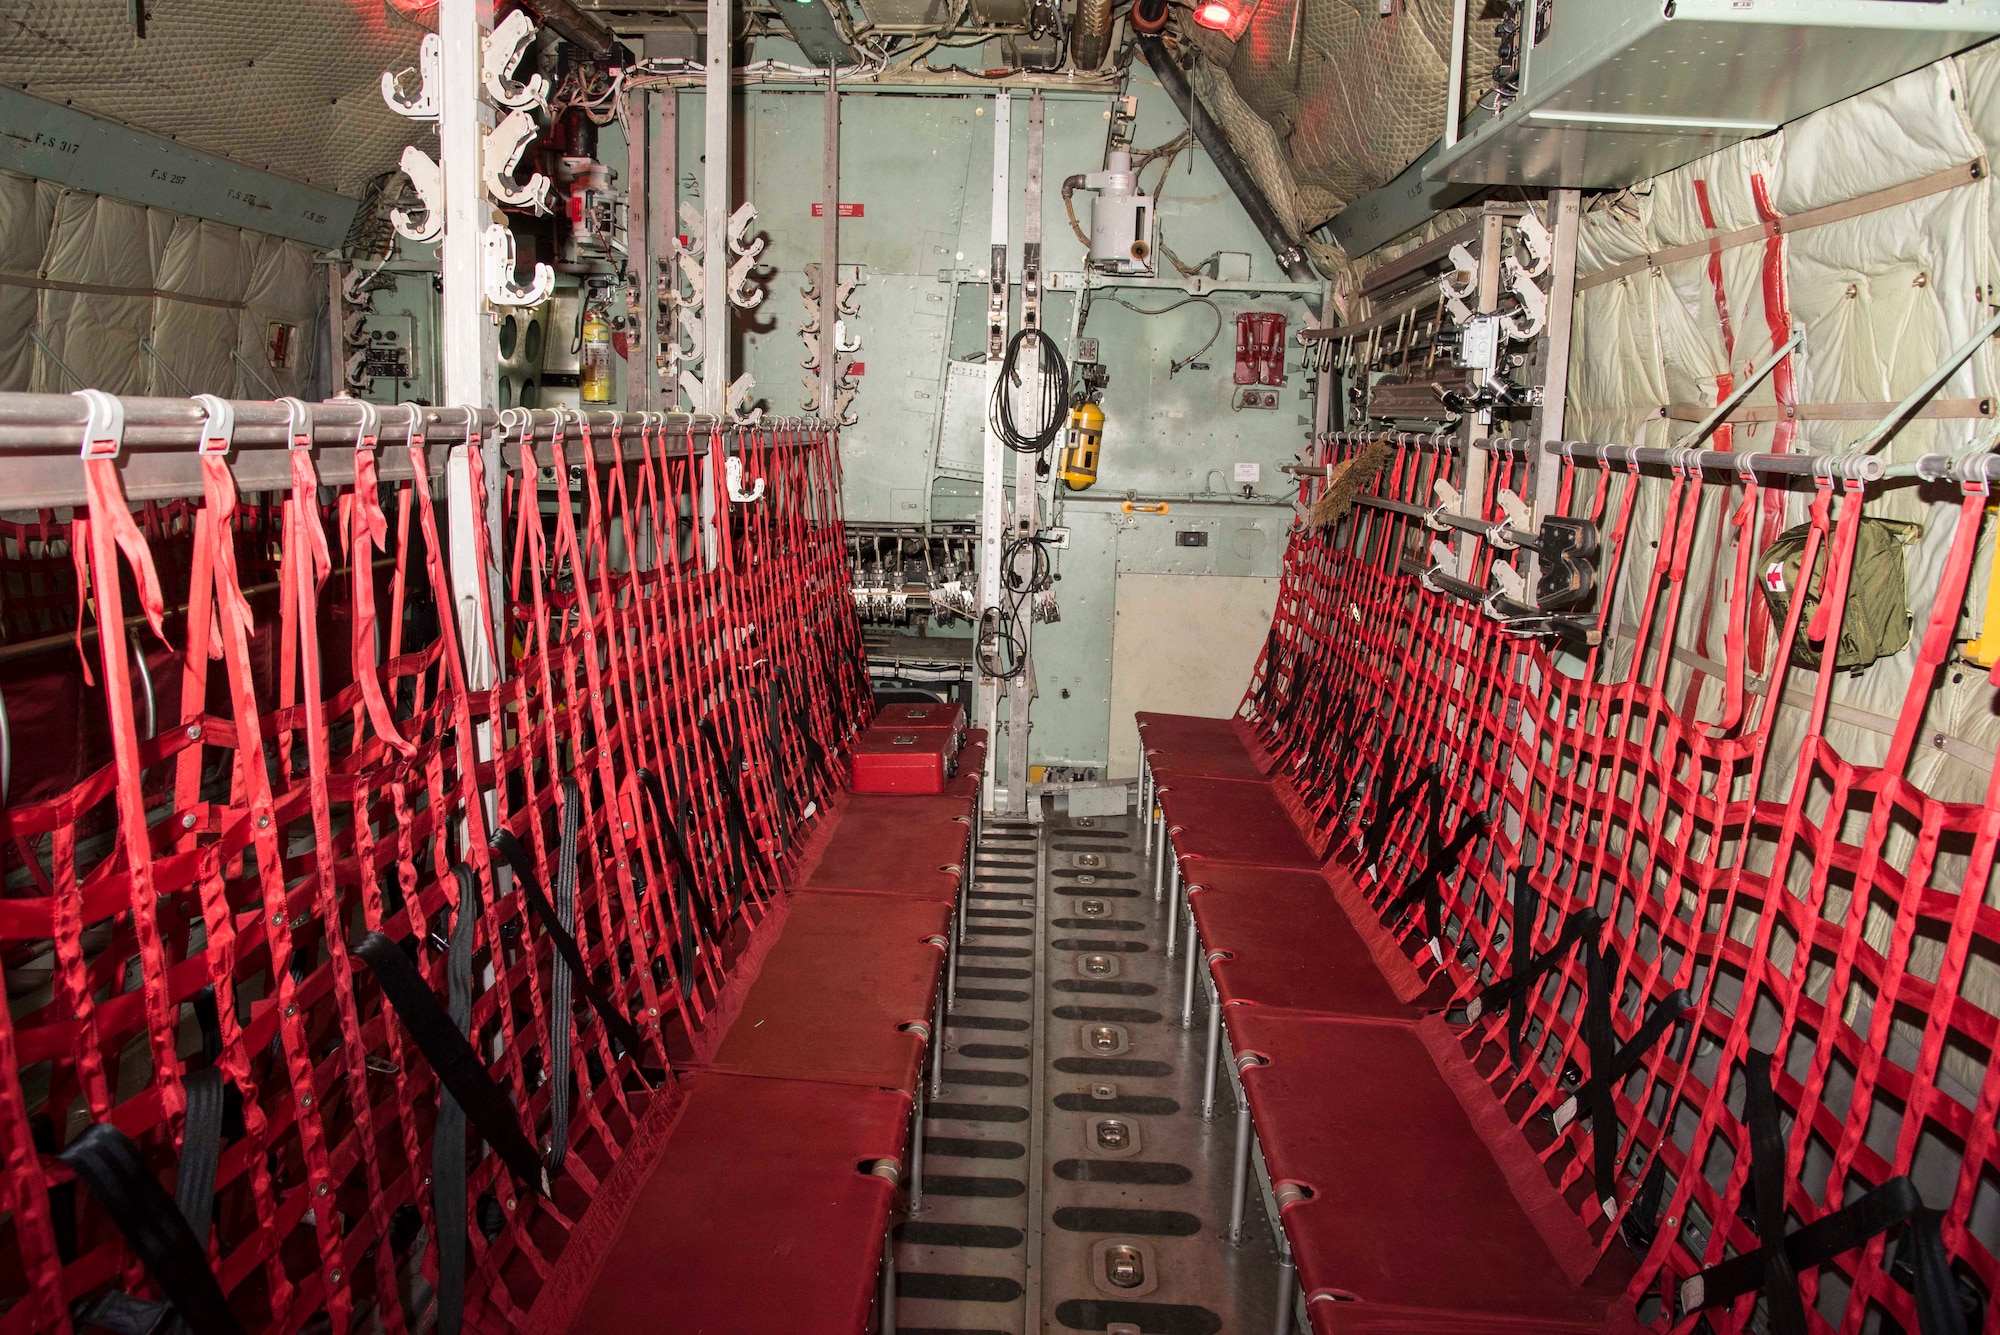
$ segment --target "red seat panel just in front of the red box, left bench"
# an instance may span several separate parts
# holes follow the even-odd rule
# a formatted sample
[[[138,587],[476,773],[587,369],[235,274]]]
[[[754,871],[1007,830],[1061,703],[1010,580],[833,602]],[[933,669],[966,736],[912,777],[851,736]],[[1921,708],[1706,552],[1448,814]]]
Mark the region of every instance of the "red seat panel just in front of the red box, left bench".
[[[960,795],[848,797],[804,887],[956,901],[970,815],[972,803]]]

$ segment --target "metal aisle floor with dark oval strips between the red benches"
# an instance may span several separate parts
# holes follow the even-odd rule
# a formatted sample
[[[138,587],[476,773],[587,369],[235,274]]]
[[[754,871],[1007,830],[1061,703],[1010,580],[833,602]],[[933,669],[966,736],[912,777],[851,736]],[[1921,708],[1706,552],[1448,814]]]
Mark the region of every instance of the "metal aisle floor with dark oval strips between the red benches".
[[[1206,985],[1182,1027],[1136,815],[988,819],[958,1001],[896,1225],[900,1335],[1266,1333],[1276,1247],[1252,1187],[1226,1239],[1236,1099],[1202,1119]]]

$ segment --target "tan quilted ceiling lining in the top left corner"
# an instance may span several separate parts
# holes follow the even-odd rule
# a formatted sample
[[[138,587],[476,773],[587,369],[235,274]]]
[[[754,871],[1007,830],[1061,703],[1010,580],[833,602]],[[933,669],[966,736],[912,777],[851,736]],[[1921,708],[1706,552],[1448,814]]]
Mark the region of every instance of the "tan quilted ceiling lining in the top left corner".
[[[426,126],[382,102],[416,64],[420,0],[10,0],[0,82],[336,194]]]

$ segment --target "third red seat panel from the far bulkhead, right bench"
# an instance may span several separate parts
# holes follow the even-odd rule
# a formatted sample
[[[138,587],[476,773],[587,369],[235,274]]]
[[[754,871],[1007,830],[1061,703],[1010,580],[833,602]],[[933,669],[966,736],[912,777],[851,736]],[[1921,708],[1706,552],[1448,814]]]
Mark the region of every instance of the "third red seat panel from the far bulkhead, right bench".
[[[1202,951],[1228,951],[1208,965],[1224,1005],[1416,1019],[1316,871],[1196,863],[1192,877]]]

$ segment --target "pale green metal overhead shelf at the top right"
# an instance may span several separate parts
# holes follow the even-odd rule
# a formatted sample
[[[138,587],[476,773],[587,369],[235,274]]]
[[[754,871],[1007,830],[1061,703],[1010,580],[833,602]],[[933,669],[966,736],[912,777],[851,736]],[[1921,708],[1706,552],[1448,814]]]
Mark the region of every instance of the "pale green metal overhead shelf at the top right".
[[[2000,34],[2000,0],[1556,0],[1522,96],[1426,180],[1606,190]]]

